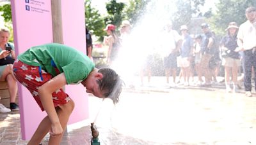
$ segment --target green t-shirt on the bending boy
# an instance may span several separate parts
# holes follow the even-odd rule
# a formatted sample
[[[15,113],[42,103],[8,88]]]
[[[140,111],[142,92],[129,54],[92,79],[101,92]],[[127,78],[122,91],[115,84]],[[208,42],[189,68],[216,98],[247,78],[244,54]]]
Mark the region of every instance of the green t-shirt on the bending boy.
[[[53,60],[60,73],[64,72],[67,84],[81,83],[95,67],[92,60],[82,52],[58,43],[34,46],[20,54],[18,59],[29,66],[40,66],[56,76],[51,63]]]

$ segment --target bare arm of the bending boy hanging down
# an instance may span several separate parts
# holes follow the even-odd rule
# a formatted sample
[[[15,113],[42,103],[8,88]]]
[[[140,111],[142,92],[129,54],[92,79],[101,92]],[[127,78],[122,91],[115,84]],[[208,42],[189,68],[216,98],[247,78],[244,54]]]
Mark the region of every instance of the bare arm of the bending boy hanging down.
[[[56,90],[60,89],[62,86],[67,85],[67,80],[65,78],[64,73],[58,74],[50,81],[44,83],[44,85],[38,88],[38,93],[40,96],[40,100],[42,105],[51,120],[51,135],[61,135],[63,132],[63,128],[61,127],[60,120],[58,118],[58,114],[54,108],[54,104],[52,102],[52,93]]]

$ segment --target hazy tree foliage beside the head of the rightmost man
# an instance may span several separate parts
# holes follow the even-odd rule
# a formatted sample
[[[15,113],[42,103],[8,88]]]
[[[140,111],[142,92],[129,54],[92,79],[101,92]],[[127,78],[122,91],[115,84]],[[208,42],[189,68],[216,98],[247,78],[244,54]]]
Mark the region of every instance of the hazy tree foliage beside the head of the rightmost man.
[[[246,21],[245,10],[249,6],[256,6],[255,0],[220,0],[216,4],[216,14],[209,18],[213,24],[216,34],[223,35],[229,22],[236,22],[237,25]]]

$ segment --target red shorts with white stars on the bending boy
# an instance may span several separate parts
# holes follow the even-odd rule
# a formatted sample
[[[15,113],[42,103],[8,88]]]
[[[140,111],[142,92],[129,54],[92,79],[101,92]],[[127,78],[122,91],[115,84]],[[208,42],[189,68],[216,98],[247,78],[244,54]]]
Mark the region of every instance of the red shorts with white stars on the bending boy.
[[[38,66],[29,66],[20,60],[15,60],[13,64],[13,74],[23,86],[28,88],[38,106],[40,106],[41,110],[44,111],[44,107],[42,106],[42,102],[38,95],[38,88],[49,81],[52,78],[52,75],[45,72],[43,69],[40,70],[40,67]],[[68,97],[68,94],[65,93],[62,88],[52,93],[52,102],[54,107],[67,104],[69,100],[70,97]]]

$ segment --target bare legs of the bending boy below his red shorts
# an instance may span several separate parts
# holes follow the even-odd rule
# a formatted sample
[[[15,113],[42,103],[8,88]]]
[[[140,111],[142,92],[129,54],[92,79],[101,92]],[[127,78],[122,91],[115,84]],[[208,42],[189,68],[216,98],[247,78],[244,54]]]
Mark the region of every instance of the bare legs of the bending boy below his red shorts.
[[[66,129],[68,118],[70,114],[72,113],[74,109],[74,101],[70,100],[67,104],[60,106],[56,109],[56,112],[58,114],[61,126],[63,130]],[[51,129],[51,121],[49,120],[49,117],[46,116],[44,120],[41,121],[40,125],[36,129],[36,132],[33,134],[33,137],[28,142],[29,144],[39,144],[42,139],[44,139],[45,135],[49,132]],[[50,137],[49,144],[60,144],[62,135],[58,135],[56,137]]]

